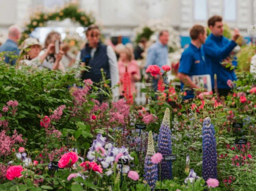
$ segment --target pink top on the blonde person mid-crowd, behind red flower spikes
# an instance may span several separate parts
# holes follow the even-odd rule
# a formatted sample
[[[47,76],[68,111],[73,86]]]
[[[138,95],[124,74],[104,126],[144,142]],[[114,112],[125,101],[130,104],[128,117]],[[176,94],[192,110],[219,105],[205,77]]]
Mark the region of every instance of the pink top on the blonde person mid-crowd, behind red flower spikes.
[[[135,89],[135,82],[139,81],[141,79],[141,71],[139,69],[139,66],[136,62],[136,60],[132,60],[131,62],[124,63],[121,60],[118,61],[118,70],[119,70],[119,78],[120,78],[120,86],[119,86],[119,92],[120,95],[123,95],[123,79],[124,79],[124,73],[125,73],[125,66],[127,65],[127,71],[131,77],[131,93],[136,94]]]

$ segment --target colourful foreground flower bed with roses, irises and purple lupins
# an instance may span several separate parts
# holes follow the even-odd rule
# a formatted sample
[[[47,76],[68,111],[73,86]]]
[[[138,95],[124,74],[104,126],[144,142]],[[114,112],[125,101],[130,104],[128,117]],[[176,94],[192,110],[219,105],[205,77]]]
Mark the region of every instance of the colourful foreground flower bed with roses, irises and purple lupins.
[[[255,75],[226,100],[162,81],[144,106],[74,76],[0,65],[0,190],[255,190]]]

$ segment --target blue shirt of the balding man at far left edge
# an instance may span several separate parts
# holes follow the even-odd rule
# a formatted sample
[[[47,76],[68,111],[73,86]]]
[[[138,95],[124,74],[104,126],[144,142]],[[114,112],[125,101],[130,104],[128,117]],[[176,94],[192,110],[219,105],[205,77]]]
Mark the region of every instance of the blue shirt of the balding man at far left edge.
[[[11,39],[7,39],[7,41],[1,45],[0,52],[13,52],[15,55],[19,55],[18,45]],[[15,65],[16,59],[5,56],[4,61],[10,65]]]

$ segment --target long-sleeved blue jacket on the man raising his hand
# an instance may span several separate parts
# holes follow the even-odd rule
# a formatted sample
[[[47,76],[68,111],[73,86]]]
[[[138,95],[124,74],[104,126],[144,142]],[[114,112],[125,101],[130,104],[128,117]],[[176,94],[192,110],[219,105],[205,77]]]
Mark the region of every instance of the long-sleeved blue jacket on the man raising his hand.
[[[221,36],[217,37],[210,34],[205,42],[204,51],[207,59],[211,60],[212,64],[212,78],[214,74],[217,74],[217,85],[221,89],[230,89],[227,85],[228,80],[237,80],[234,69],[226,69],[220,63],[223,59],[230,55],[233,48],[237,46],[237,43],[233,40]],[[233,60],[232,64],[237,66],[237,60]]]

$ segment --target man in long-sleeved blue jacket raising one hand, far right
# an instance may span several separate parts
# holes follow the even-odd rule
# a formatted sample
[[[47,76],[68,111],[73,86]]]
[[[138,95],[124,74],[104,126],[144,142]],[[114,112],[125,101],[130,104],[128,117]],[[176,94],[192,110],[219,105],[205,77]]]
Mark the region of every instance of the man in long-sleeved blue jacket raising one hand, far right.
[[[239,30],[234,30],[232,40],[223,37],[222,17],[215,15],[208,20],[208,26],[211,34],[207,37],[204,45],[206,57],[211,60],[212,76],[217,75],[217,87],[220,96],[227,96],[230,87],[227,85],[228,80],[237,80],[234,68],[237,66],[236,60],[231,60],[229,55],[237,46],[235,41],[240,36]]]

